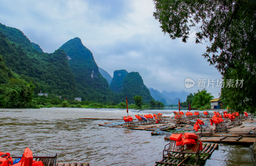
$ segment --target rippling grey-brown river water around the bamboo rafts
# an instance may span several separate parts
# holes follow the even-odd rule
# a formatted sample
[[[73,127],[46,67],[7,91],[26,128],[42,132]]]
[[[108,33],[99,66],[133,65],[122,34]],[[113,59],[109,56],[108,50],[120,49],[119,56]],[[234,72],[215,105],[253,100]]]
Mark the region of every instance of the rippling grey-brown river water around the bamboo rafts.
[[[173,110],[129,110],[173,116]],[[57,162],[89,162],[90,166],[151,166],[162,157],[168,141],[150,131],[99,126],[109,120],[79,118],[121,118],[126,109],[43,108],[0,109],[0,151],[22,155],[29,147],[33,155],[55,155]],[[118,121],[112,121],[118,122]],[[119,121],[120,122],[120,121]],[[206,166],[253,165],[249,146],[219,144]]]

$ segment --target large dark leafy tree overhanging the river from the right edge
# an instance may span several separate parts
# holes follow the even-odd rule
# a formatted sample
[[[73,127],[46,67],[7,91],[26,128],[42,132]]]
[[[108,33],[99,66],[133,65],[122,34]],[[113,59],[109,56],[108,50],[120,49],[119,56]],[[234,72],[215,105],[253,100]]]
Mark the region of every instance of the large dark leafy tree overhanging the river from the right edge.
[[[226,82],[242,78],[247,81],[244,88],[222,88],[223,102],[236,111],[255,112],[256,1],[154,0],[154,3],[153,15],[164,34],[187,42],[189,33],[195,32],[196,43],[207,42],[202,56],[219,70]]]

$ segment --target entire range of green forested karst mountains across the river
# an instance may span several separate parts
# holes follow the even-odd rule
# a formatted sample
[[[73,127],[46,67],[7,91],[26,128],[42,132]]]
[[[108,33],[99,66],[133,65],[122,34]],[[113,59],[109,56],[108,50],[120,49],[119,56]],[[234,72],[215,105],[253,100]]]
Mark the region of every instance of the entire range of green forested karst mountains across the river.
[[[115,71],[110,87],[92,52],[79,38],[67,41],[53,53],[44,53],[19,29],[0,23],[0,107],[32,108],[37,104],[32,96],[40,91],[94,102],[120,103],[127,96],[129,103],[134,103],[135,95],[142,96],[143,102],[153,99],[138,72]],[[15,91],[19,94],[13,96]]]

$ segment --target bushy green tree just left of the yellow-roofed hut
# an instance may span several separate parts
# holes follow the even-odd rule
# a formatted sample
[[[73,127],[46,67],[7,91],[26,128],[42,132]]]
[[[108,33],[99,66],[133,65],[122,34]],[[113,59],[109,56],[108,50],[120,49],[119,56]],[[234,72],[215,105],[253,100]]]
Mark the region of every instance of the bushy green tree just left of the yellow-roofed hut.
[[[194,93],[194,100],[191,103],[191,108],[200,108],[206,105],[210,105],[210,101],[212,100],[213,96],[211,93],[207,93],[205,89],[197,90],[197,93]]]

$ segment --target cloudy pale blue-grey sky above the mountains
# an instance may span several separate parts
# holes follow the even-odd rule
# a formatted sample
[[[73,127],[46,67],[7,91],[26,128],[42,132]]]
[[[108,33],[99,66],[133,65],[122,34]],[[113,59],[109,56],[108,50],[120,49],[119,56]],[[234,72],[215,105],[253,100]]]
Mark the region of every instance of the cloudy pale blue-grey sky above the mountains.
[[[201,55],[206,45],[171,40],[153,17],[151,0],[0,0],[0,23],[20,29],[44,52],[52,53],[79,37],[99,67],[111,76],[115,70],[139,72],[144,84],[154,89],[199,89],[198,79],[214,79],[207,89],[217,98],[221,79]],[[195,86],[185,87],[185,79]],[[201,84],[200,84],[201,85]],[[203,86],[200,86],[202,89]]]

